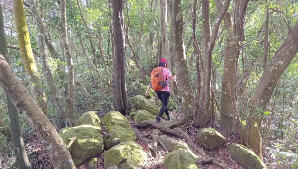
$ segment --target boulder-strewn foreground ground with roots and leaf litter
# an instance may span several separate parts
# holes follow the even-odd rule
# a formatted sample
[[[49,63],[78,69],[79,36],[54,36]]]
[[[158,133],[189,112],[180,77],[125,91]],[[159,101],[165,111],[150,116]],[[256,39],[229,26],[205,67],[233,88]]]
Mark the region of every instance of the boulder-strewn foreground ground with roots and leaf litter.
[[[254,153],[234,144],[238,142],[235,135],[216,125],[203,129],[180,125],[182,115],[177,111],[171,112],[174,120],[157,124],[156,99],[137,95],[131,103],[130,116],[111,111],[99,118],[89,111],[78,119],[76,127],[59,131],[77,169],[266,169]],[[53,168],[35,137],[27,147],[34,169]]]

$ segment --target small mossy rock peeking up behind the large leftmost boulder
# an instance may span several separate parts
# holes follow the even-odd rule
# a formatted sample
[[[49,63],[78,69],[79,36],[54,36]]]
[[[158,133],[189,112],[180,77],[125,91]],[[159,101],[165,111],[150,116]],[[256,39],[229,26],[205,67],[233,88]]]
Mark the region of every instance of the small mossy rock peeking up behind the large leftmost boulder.
[[[80,116],[80,118],[77,120],[76,125],[79,126],[82,124],[91,124],[95,127],[98,127],[99,129],[101,129],[100,118],[95,113],[95,111],[88,111],[88,112],[85,112],[84,114],[82,114]]]

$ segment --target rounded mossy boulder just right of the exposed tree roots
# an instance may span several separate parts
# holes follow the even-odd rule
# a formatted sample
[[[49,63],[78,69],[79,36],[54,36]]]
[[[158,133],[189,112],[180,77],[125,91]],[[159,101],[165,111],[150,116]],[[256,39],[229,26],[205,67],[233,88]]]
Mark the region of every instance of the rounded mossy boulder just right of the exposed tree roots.
[[[197,140],[205,150],[214,150],[225,143],[224,136],[214,128],[201,128],[197,132]]]

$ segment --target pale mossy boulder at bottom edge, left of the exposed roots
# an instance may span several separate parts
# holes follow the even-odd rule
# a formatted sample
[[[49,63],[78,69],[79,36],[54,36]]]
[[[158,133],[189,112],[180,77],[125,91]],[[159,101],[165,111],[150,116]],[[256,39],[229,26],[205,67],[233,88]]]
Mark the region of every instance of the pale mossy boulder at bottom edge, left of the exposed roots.
[[[135,141],[120,143],[106,152],[104,168],[117,166],[120,169],[138,169],[148,160],[143,148]]]

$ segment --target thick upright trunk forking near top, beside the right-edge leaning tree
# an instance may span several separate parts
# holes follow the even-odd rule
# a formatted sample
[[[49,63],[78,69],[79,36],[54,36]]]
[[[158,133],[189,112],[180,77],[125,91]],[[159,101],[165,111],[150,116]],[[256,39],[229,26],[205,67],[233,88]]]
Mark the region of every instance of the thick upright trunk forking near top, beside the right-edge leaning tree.
[[[222,0],[215,0],[218,10],[224,5]],[[234,5],[234,18],[231,20],[230,13],[224,16],[225,28],[229,30],[229,38],[224,53],[224,74],[222,78],[222,96],[220,124],[221,127],[235,132],[237,123],[235,112],[238,111],[237,82],[238,59],[245,41],[244,22],[249,0],[236,1]]]

